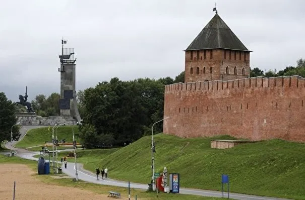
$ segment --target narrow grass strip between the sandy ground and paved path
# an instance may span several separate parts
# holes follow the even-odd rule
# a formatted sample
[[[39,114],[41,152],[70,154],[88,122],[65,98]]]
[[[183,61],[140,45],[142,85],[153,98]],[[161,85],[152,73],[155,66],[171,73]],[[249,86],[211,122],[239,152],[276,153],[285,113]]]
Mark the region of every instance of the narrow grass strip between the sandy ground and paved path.
[[[38,175],[37,173],[37,162],[32,160],[21,159],[19,157],[7,157],[0,155],[0,164],[2,163],[16,163],[16,164],[26,164],[29,166],[33,171],[36,172],[34,176],[41,180],[45,185],[62,185],[68,187],[75,187],[80,189],[90,190],[100,194],[108,194],[108,191],[116,191],[120,192],[122,196],[125,198],[128,196],[128,188],[124,187],[115,187],[115,186],[107,186],[107,185],[100,185],[100,184],[93,184],[84,181],[73,181],[72,178],[64,178],[64,179],[54,179],[51,176],[52,170],[48,175]],[[131,199],[134,199],[137,195],[138,199],[174,199],[174,200],[184,200],[184,199],[200,199],[200,200],[217,200],[220,198],[213,198],[213,197],[204,197],[204,196],[196,196],[196,195],[186,195],[186,194],[171,194],[171,193],[159,193],[158,198],[155,192],[146,192],[145,190],[141,189],[133,189],[131,188]]]

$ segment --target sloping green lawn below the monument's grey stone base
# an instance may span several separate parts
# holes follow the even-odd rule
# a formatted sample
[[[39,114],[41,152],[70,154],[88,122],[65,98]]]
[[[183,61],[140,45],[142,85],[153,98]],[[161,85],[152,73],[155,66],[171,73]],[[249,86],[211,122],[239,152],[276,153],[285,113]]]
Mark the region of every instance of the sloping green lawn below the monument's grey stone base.
[[[74,127],[74,134],[79,134],[79,129],[77,126]],[[50,127],[50,134],[48,131],[48,127],[43,127],[39,129],[31,129],[27,132],[25,137],[18,142],[15,146],[17,148],[27,148],[37,145],[43,145],[45,142],[52,140],[52,127]],[[72,134],[72,126],[61,126],[57,128],[57,139],[62,140],[66,139],[66,142],[73,142],[73,134]],[[55,137],[55,136],[54,136]],[[79,138],[76,136],[76,141],[79,141]],[[41,149],[41,148],[40,148]]]

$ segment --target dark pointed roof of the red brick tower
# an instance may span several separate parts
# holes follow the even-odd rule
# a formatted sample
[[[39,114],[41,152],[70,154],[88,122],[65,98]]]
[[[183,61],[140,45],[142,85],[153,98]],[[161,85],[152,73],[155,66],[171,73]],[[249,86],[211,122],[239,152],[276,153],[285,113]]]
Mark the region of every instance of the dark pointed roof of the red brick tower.
[[[249,51],[217,13],[185,51],[201,49]]]

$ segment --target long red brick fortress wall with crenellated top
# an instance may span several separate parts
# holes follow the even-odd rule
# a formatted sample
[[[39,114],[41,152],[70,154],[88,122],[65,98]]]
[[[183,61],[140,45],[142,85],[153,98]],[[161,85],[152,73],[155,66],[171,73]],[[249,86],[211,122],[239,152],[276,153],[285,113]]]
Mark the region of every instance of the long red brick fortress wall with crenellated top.
[[[305,79],[253,77],[165,86],[163,132],[305,142]]]

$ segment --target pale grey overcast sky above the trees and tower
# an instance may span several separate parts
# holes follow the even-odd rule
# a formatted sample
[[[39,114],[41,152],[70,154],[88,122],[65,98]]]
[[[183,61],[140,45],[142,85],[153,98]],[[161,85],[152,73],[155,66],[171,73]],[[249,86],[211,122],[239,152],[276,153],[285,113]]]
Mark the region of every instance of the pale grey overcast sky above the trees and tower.
[[[174,78],[211,20],[214,0],[1,1],[0,91],[18,101],[59,92],[60,40],[75,48],[77,90],[111,77]],[[251,67],[283,69],[305,57],[305,1],[217,0],[219,16],[253,51]]]

